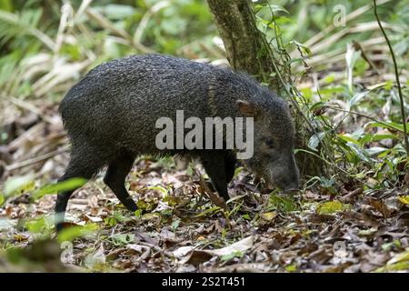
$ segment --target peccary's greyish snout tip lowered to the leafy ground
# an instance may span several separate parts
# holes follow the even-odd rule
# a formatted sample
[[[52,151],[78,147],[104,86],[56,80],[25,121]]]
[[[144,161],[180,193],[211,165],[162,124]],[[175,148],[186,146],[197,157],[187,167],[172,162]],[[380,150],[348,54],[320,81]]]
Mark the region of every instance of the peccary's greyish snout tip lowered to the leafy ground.
[[[294,192],[299,189],[299,176],[299,170],[291,152],[282,154],[271,164],[270,180],[275,186],[284,189],[284,192]]]

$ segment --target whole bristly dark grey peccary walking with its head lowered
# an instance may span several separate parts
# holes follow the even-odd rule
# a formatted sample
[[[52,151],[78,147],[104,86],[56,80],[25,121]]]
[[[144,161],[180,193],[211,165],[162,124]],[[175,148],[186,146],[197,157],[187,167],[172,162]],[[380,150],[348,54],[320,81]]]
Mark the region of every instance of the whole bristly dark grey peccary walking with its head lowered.
[[[85,75],[65,95],[59,110],[72,143],[71,159],[59,181],[89,179],[108,166],[105,184],[130,211],[137,206],[125,189],[125,177],[141,154],[199,158],[215,190],[229,198],[234,149],[158,149],[156,121],[164,116],[175,120],[177,110],[183,110],[186,118],[202,120],[254,117],[254,155],[244,164],[284,190],[298,187],[288,105],[250,76],[230,69],[166,55],[115,59]],[[55,213],[60,219],[72,194],[57,195]],[[60,220],[57,230],[61,226]]]

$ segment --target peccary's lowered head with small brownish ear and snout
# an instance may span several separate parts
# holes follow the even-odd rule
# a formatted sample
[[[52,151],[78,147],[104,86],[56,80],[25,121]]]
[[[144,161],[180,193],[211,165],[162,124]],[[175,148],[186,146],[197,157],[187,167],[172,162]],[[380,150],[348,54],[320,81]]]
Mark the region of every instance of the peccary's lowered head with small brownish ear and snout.
[[[244,116],[254,117],[254,155],[244,163],[268,185],[294,191],[298,189],[299,171],[294,160],[294,124],[289,106],[269,92],[263,94],[256,102],[236,101]]]

